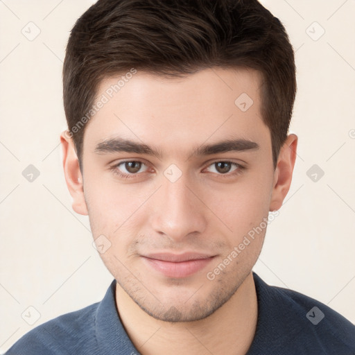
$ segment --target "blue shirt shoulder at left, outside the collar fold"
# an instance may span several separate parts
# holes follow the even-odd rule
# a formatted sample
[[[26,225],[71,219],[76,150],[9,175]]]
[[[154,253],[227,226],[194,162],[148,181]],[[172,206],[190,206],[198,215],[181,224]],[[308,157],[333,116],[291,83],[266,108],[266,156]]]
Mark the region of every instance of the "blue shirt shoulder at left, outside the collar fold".
[[[95,354],[92,349],[96,347],[98,304],[100,302],[40,324],[17,340],[5,355],[85,354],[85,349]]]

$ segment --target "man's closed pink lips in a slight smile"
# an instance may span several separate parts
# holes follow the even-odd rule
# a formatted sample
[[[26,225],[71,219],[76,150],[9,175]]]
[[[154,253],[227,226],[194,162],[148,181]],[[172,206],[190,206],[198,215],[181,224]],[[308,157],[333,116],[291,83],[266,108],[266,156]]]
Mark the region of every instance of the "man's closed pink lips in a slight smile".
[[[155,253],[142,256],[150,268],[165,277],[182,278],[205,268],[214,256],[186,252],[184,254]]]

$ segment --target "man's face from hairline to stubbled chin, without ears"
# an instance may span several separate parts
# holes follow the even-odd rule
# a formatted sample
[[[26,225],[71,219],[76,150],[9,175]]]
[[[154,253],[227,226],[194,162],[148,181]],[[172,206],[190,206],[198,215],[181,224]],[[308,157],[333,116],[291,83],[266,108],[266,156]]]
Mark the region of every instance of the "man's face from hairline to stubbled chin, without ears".
[[[103,80],[97,98],[118,80]],[[260,85],[246,69],[138,71],[85,128],[79,213],[105,266],[154,318],[207,317],[257,261],[276,178]]]

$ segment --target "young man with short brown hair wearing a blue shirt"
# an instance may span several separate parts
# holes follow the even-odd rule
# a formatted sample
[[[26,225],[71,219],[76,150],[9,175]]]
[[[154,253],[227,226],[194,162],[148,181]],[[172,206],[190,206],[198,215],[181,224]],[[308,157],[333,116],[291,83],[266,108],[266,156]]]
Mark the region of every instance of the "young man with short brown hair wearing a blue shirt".
[[[67,186],[114,281],[8,355],[355,354],[351,322],[252,272],[297,149],[277,18],[256,0],[100,0],[63,80]]]

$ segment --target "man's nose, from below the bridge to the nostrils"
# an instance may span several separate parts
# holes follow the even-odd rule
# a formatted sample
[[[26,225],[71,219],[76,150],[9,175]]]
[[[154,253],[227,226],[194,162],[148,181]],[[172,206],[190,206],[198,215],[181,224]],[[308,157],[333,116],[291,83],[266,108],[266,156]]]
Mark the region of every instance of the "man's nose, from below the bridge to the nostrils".
[[[163,181],[151,205],[153,231],[175,242],[203,233],[207,225],[207,211],[198,195],[184,174],[178,181]]]

